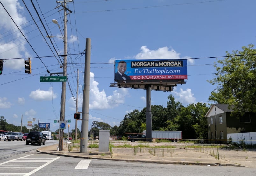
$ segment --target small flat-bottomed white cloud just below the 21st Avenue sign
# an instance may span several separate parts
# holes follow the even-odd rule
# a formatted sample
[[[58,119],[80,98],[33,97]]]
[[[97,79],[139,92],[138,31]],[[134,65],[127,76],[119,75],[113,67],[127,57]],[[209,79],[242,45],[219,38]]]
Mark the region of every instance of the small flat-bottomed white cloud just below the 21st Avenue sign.
[[[29,97],[37,100],[37,101],[44,101],[44,100],[52,100],[57,97],[57,94],[55,94],[50,87],[48,91],[37,89],[36,91],[32,91],[29,94]]]

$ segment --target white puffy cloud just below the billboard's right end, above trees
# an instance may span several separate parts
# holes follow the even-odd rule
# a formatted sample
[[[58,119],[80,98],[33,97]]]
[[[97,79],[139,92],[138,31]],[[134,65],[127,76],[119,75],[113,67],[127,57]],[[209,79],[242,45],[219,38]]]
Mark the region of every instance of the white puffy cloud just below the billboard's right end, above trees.
[[[191,89],[187,89],[185,91],[183,91],[183,89],[180,89],[180,92],[174,90],[173,94],[175,100],[181,102],[182,104],[188,105],[191,103],[196,103],[196,98],[194,97]]]

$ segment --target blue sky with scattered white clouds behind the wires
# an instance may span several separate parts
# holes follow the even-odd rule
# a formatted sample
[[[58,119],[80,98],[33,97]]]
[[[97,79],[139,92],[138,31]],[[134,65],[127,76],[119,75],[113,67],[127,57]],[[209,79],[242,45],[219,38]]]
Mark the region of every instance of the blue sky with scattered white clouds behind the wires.
[[[24,2],[1,0],[0,4],[0,59],[4,60],[0,116],[17,126],[35,118],[33,125],[50,123],[54,132],[59,127],[54,120],[60,118],[62,83],[40,82],[40,76],[50,76],[47,70],[63,72],[63,57],[57,55],[64,50],[64,12],[53,0]],[[184,106],[211,104],[208,98],[217,85],[207,80],[215,78],[217,59],[255,44],[255,7],[254,0],[68,2],[72,13],[67,15],[65,120],[71,120],[70,130],[75,129],[77,80],[82,112],[86,38],[91,39],[88,128],[93,121],[119,126],[127,113],[146,107],[146,90],[110,87],[115,60],[189,59],[186,84],[169,92],[151,91],[151,104],[166,107],[169,95]],[[55,36],[52,43],[47,33]],[[31,74],[25,73],[27,58],[31,58]],[[81,121],[77,127],[81,129]]]

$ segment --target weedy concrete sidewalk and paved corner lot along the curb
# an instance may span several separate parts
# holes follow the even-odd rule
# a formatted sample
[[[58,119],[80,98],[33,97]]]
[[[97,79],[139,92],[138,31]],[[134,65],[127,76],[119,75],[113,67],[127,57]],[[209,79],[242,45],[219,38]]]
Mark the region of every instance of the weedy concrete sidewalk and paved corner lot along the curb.
[[[163,164],[206,165],[206,166],[239,166],[256,168],[255,149],[217,149],[217,148],[112,148],[110,155],[98,155],[98,148],[88,148],[87,153],[80,153],[79,148],[68,151],[64,143],[62,151],[57,146],[46,146],[38,152],[65,157],[85,159],[104,159],[126,162],[146,162]]]

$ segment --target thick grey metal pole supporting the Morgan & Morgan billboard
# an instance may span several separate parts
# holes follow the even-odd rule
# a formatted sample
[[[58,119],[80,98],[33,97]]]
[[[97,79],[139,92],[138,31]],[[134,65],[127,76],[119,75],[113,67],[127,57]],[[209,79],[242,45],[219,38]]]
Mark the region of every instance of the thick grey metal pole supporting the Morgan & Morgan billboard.
[[[152,142],[151,86],[147,86],[146,132],[147,142]]]

